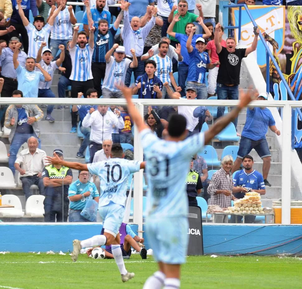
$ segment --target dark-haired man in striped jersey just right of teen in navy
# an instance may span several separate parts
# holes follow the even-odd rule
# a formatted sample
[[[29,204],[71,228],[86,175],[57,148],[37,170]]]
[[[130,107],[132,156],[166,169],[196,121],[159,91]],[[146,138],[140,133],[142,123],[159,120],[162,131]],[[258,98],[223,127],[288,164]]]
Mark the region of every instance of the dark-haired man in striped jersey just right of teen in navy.
[[[155,76],[157,76],[161,82],[165,83],[168,82],[170,88],[174,87],[175,91],[181,92],[182,89],[180,86],[177,86],[173,72],[172,72],[172,60],[167,56],[169,49],[169,44],[166,41],[161,41],[158,44],[158,51],[159,53],[152,56],[150,60],[154,60],[157,66],[157,70],[155,72]],[[172,86],[171,86],[172,84]],[[166,87],[163,87],[162,90],[162,98],[166,98],[167,90]]]

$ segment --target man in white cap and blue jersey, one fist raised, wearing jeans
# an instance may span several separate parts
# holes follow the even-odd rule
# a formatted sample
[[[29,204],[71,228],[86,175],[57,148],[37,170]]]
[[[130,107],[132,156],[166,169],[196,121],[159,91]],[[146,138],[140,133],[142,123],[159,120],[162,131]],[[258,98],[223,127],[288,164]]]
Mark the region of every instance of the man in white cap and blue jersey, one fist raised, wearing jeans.
[[[205,40],[202,37],[196,39],[196,48],[192,46],[192,38],[196,27],[193,27],[186,43],[189,53],[189,69],[186,88],[195,87],[197,90],[197,99],[207,99],[208,92],[205,85],[206,69],[213,69],[219,64],[219,61],[210,63],[210,57],[205,52]]]

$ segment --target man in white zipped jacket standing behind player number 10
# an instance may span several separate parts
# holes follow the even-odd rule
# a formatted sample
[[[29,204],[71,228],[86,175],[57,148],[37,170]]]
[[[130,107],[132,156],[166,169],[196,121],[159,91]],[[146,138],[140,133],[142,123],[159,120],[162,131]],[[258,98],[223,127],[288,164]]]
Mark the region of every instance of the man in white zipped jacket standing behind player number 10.
[[[93,161],[94,154],[102,149],[102,143],[105,139],[112,139],[112,125],[122,129],[125,126],[124,120],[120,117],[120,111],[107,111],[107,105],[99,105],[97,110],[91,108],[82,121],[82,126],[88,128],[91,126],[89,153],[90,163]]]

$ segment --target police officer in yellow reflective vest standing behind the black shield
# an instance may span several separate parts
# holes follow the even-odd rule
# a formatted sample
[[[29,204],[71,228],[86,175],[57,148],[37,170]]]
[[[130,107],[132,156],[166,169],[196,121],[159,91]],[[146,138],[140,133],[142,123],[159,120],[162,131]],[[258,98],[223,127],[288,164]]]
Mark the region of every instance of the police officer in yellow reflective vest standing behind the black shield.
[[[189,206],[197,206],[196,197],[201,193],[201,189],[202,189],[202,182],[199,177],[199,173],[198,171],[193,170],[194,160],[195,159],[192,157],[191,164],[190,164],[190,171],[186,179]]]

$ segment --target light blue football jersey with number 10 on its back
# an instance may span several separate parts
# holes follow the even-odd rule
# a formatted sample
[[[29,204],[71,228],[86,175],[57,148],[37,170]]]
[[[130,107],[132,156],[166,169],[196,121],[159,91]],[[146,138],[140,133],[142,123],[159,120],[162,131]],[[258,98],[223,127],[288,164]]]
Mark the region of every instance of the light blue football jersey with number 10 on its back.
[[[106,206],[110,202],[125,207],[128,177],[140,170],[140,164],[140,161],[120,158],[87,164],[89,172],[100,178],[99,207]]]

